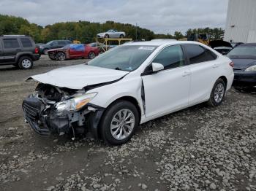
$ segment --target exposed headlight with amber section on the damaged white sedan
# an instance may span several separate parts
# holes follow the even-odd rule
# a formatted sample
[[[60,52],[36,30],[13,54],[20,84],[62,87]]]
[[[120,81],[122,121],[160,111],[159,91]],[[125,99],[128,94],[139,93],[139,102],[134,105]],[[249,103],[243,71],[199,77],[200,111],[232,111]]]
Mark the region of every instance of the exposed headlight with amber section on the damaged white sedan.
[[[89,101],[91,101],[96,95],[97,93],[86,93],[83,95],[75,96],[74,98],[61,101],[56,104],[56,109],[58,112],[77,111],[88,104]]]

